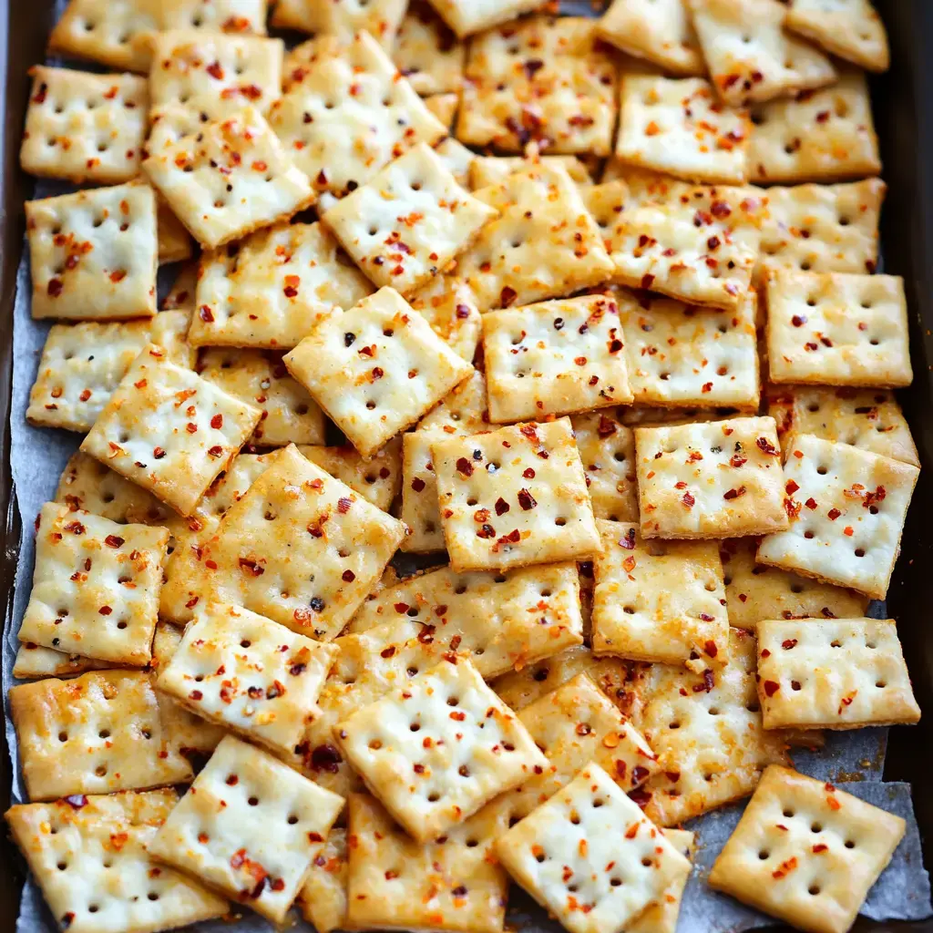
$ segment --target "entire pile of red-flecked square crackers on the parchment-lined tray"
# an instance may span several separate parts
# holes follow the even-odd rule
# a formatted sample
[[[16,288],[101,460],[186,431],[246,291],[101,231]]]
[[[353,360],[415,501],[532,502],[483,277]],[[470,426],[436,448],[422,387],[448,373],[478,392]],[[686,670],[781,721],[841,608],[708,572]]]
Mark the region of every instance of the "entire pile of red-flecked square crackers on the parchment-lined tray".
[[[27,417],[83,439],[7,821],[62,929],[503,933],[514,882],[673,933],[681,825],[750,796],[705,882],[842,933],[894,853],[791,767],[920,716],[867,618],[919,472],[884,27],[555,12],[279,0],[288,51],[266,0],[56,25],[96,67],[33,72],[23,168],[78,188],[25,205]]]

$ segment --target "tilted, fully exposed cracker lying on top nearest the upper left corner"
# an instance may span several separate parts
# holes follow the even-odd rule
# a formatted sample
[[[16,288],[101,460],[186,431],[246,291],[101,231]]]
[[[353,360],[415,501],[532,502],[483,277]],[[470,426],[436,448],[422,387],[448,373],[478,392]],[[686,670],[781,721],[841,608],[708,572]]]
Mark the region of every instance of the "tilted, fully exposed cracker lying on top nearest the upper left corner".
[[[314,202],[308,178],[253,107],[204,124],[143,162],[202,246],[216,248]]]

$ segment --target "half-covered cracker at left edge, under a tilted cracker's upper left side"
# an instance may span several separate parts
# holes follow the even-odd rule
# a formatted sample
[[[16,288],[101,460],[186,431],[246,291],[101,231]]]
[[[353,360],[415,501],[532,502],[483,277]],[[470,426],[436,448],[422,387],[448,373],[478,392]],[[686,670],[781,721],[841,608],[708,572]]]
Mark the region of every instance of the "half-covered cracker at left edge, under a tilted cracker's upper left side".
[[[132,361],[150,341],[157,341],[179,366],[188,368],[188,320],[188,313],[166,311],[138,321],[52,325],[26,418],[34,425],[90,431]]]

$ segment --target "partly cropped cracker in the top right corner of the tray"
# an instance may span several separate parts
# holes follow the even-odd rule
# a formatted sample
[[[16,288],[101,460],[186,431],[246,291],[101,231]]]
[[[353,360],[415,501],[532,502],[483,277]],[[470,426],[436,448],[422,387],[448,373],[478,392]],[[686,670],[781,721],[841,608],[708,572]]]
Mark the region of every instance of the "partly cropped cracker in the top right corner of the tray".
[[[869,71],[887,71],[884,22],[869,0],[792,0],[784,24],[833,55]]]

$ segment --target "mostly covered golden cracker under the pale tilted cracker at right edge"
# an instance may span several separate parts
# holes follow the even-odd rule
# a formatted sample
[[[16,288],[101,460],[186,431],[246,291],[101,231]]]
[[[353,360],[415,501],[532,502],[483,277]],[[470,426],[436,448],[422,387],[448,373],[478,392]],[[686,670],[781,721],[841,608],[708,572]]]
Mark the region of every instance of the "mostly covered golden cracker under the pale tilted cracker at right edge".
[[[730,625],[755,632],[762,619],[855,619],[869,600],[861,593],[756,564],[759,539],[719,542]]]

